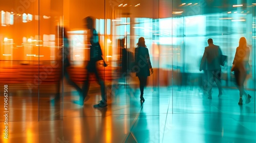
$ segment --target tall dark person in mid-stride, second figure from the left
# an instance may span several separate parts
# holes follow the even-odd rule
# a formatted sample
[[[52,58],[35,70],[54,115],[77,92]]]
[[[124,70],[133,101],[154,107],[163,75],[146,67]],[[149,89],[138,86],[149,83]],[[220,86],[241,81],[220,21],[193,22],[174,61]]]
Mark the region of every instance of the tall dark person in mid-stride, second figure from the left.
[[[89,81],[89,77],[90,75],[95,75],[98,84],[100,85],[100,92],[101,92],[101,101],[99,102],[99,104],[94,105],[94,107],[106,107],[108,106],[107,104],[107,98],[106,98],[106,93],[105,93],[105,85],[104,85],[104,80],[101,79],[101,77],[99,76],[99,70],[98,70],[98,65],[99,65],[99,61],[102,61],[102,51],[101,51],[101,47],[99,44],[99,36],[97,31],[94,28],[94,21],[95,19],[88,16],[86,18],[83,19],[85,22],[85,27],[87,29],[90,30],[90,61],[88,62],[88,65],[86,66],[87,68],[87,76],[86,76],[86,80],[84,81],[84,84],[82,86],[82,96],[80,96],[79,101],[73,101],[75,104],[78,105],[83,105],[84,100],[86,99],[86,97],[88,96],[88,91],[90,88],[90,81]],[[104,67],[106,67],[106,63],[103,60],[104,63]]]

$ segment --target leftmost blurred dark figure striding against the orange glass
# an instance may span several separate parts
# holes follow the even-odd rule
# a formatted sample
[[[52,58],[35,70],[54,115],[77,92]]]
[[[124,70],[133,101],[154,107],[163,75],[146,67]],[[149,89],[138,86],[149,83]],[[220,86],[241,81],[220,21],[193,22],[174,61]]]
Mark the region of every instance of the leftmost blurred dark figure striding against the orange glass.
[[[68,38],[68,33],[67,29],[65,27],[59,27],[59,40],[60,40],[60,45],[63,46],[61,49],[61,52],[59,56],[61,57],[61,63],[62,69],[60,70],[60,80],[57,84],[57,93],[54,98],[55,101],[58,101],[60,99],[60,86],[61,86],[61,81],[66,78],[67,82],[72,85],[73,87],[76,88],[77,92],[79,95],[81,94],[81,88],[70,79],[70,75],[68,73],[68,67],[70,67],[70,44],[69,44],[69,38]]]

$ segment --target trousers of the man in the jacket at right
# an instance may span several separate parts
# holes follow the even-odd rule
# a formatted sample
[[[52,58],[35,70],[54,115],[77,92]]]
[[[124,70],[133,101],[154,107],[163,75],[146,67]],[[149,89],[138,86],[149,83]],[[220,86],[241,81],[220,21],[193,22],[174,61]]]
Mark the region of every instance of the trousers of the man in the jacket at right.
[[[211,96],[211,89],[212,85],[214,84],[214,81],[216,82],[219,94],[222,93],[222,87],[221,87],[221,68],[220,69],[214,69],[214,70],[207,70],[208,74],[208,95]]]

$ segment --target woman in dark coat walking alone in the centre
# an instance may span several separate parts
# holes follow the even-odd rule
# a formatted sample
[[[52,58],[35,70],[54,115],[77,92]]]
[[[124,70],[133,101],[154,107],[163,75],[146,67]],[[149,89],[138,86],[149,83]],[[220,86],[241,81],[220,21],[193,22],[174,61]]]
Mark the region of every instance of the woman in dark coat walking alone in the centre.
[[[150,74],[153,74],[153,68],[150,61],[150,54],[148,53],[143,37],[139,38],[137,47],[135,48],[135,66],[138,68],[136,70],[136,76],[140,81],[140,101],[144,102],[144,87],[147,83],[147,77],[150,76]]]

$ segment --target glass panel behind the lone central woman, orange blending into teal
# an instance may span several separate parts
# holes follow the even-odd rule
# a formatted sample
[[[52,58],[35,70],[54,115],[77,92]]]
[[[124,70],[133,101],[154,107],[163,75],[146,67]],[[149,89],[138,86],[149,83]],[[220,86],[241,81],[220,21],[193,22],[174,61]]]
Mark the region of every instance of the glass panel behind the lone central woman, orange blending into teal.
[[[130,106],[125,110],[125,118],[130,118],[125,126],[129,127],[126,142],[137,140],[138,142],[149,141],[151,138],[140,138],[140,134],[154,136],[154,141],[159,140],[159,55],[158,55],[158,1],[106,1],[105,15],[110,19],[111,35],[108,39],[111,46],[105,47],[110,51],[109,62],[114,68],[112,73],[118,76],[110,84],[112,85],[112,107]],[[154,10],[154,12],[152,12]],[[105,26],[108,29],[108,24]],[[136,43],[140,37],[144,37],[149,51],[154,74],[147,78],[147,86],[143,97],[145,104],[140,105],[139,79],[136,70],[140,67],[134,65]],[[121,100],[122,99],[122,100]],[[119,101],[119,102],[117,102]],[[151,105],[154,106],[151,106]],[[155,116],[156,115],[156,116]],[[146,118],[150,116],[150,118]],[[154,116],[154,120],[152,117]],[[138,132],[140,122],[147,124],[146,128],[152,127],[155,132],[147,132],[143,129]],[[144,127],[144,126],[143,126]],[[145,127],[144,127],[145,128]]]

